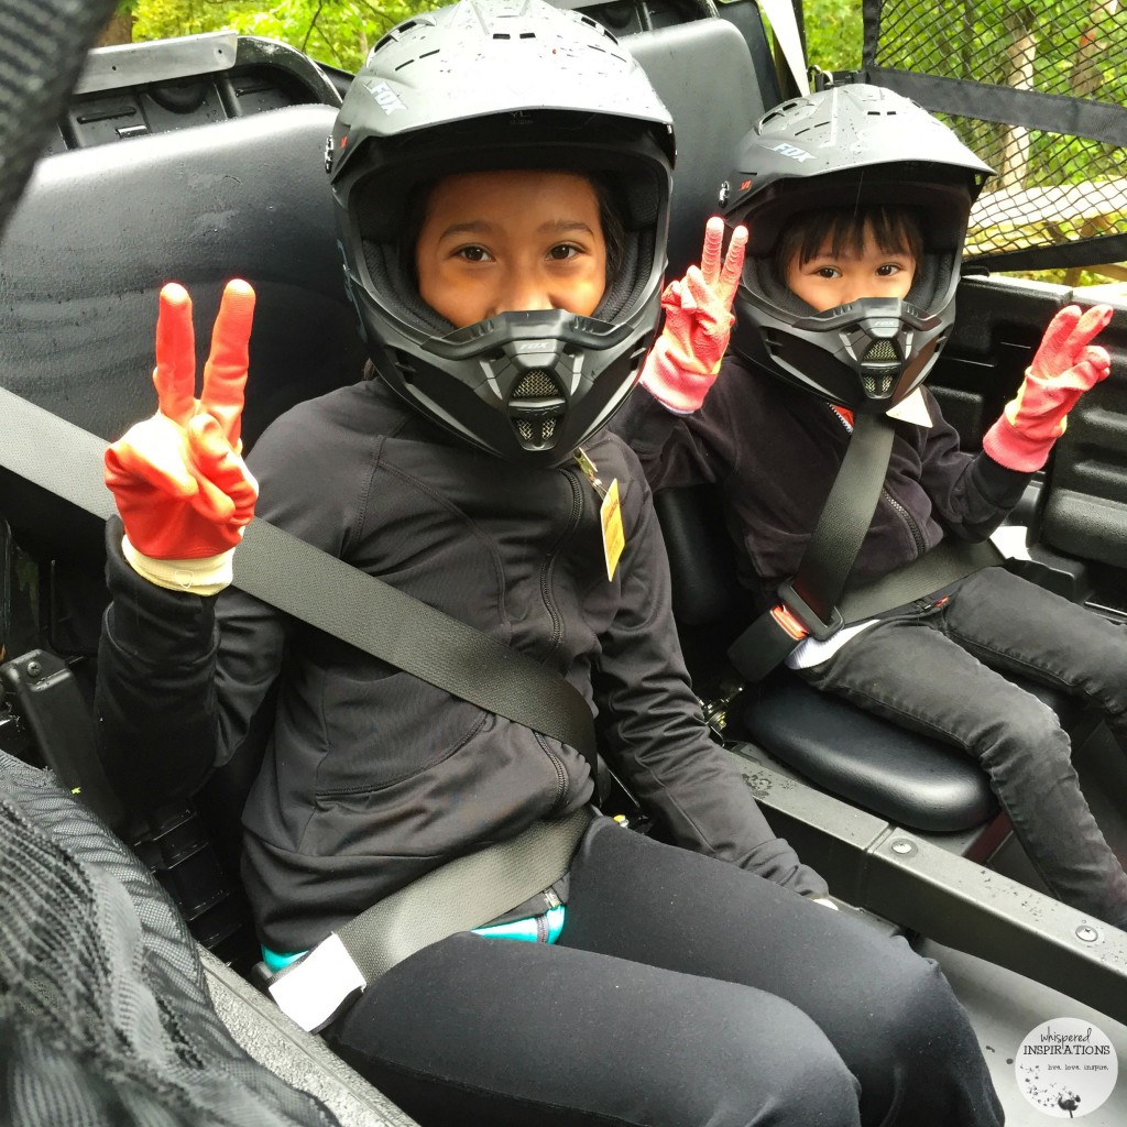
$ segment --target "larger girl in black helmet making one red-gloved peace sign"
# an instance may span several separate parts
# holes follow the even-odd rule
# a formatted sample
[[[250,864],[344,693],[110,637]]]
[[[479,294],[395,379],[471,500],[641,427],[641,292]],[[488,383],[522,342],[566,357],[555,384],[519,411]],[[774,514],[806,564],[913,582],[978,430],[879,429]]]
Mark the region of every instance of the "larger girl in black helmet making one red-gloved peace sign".
[[[252,294],[229,287],[196,400],[187,295],[166,290],[161,410],[107,455],[125,530],[99,660],[107,764],[131,805],[185,796],[281,684],[243,815],[274,966],[327,956],[332,929],[424,873],[589,804],[574,747],[234,588],[216,601],[257,511],[569,677],[607,760],[685,846],[596,818],[569,887],[371,985],[326,1035],[407,1111],[1000,1122],[938,968],[811,903],[825,882],[709,740],[648,490],[600,429],[654,328],[672,152],[636,64],[571,14],[469,2],[375,47],[329,153],[375,378],[284,415],[248,470]],[[616,536],[592,465],[616,482]]]

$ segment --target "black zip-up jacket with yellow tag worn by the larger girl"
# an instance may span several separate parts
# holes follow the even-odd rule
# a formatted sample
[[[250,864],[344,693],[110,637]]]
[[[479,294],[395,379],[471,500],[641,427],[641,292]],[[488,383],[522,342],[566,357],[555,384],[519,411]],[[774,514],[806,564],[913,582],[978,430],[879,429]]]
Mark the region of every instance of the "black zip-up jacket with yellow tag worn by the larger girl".
[[[676,842],[824,894],[708,738],[637,461],[610,435],[587,452],[622,495],[625,550],[611,582],[597,498],[577,467],[479,453],[380,381],[295,407],[249,462],[259,516],[565,674],[597,710],[603,754]],[[574,748],[233,588],[216,601],[154,587],[125,564],[118,535],[98,715],[132,805],[197,788],[252,738],[279,685],[243,814],[243,879],[273,949],[309,947],[452,857],[591,799]]]

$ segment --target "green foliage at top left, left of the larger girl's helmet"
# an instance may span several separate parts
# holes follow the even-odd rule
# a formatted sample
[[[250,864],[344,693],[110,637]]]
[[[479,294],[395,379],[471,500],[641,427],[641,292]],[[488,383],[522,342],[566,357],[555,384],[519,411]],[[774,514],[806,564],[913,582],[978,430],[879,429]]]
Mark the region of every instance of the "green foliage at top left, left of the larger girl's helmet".
[[[134,39],[239,32],[281,39],[321,62],[355,71],[369,48],[412,12],[441,0],[128,0]]]

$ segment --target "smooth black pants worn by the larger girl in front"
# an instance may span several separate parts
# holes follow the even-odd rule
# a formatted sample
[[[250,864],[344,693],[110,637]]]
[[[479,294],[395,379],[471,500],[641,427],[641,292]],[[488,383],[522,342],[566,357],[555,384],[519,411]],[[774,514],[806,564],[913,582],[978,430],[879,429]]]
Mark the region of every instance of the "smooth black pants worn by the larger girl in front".
[[[607,819],[557,946],[454,935],[328,1036],[424,1127],[1003,1121],[933,962]]]

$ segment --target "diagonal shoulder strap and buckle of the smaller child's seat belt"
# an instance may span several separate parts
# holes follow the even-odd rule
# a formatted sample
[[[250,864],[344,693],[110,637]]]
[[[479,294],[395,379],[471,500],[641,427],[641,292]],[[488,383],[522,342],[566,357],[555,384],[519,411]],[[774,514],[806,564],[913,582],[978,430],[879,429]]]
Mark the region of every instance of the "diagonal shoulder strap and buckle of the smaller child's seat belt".
[[[895,436],[885,415],[857,416],[795,577],[780,585],[779,605],[756,618],[728,648],[728,660],[749,682],[762,681],[808,635],[825,640],[842,628],[837,602],[877,511]]]

